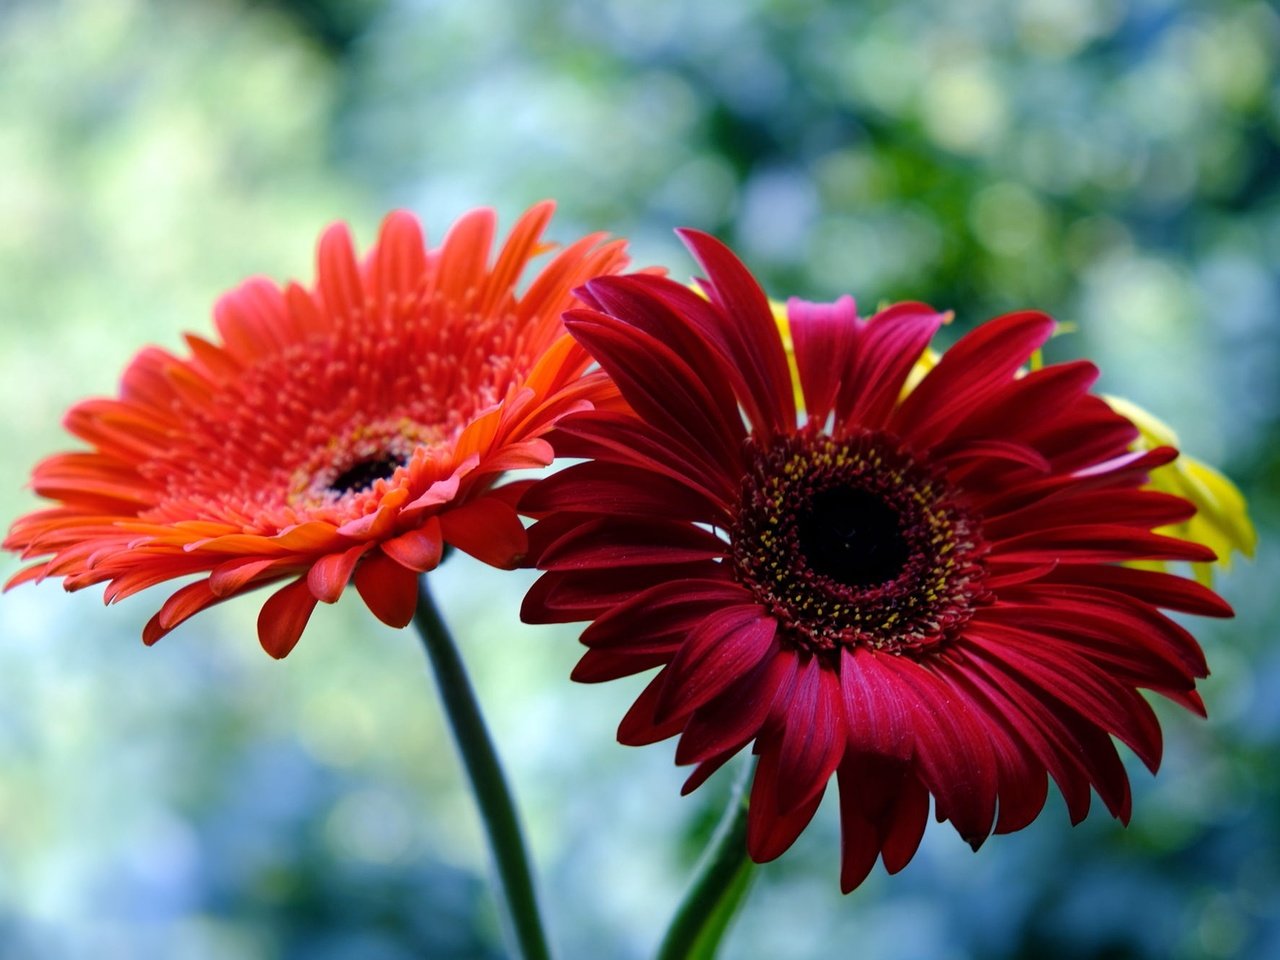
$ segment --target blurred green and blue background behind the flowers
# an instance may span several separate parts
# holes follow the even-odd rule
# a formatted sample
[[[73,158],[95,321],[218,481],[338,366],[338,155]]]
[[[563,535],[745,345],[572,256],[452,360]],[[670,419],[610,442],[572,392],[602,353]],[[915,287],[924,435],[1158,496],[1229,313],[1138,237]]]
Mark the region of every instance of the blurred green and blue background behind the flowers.
[[[838,893],[828,803],[758,872],[726,957],[1280,956],[1280,18],[1238,0],[0,0],[0,515],[59,421],[250,274],[396,206],[436,239],[543,197],[553,234],[733,244],[776,296],[1021,306],[1224,467],[1262,532],[1198,623],[1210,721],[1165,719],[1133,826],[1053,794],[974,855],[932,827]],[[0,558],[0,575],[17,570]],[[657,941],[727,783],[613,730],[529,577],[434,575],[525,805],[566,956]],[[154,649],[165,591],[0,599],[0,957],[503,956],[422,655],[348,599],[287,662],[257,598]],[[833,792],[833,791],[832,791]]]

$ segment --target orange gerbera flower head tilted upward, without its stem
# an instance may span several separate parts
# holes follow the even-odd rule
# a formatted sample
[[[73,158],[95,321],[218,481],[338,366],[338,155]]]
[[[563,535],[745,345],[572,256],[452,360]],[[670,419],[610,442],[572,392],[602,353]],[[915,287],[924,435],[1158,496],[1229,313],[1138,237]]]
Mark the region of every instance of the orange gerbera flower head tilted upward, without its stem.
[[[314,291],[251,279],[214,312],[220,342],[191,356],[143,349],[120,396],[67,415],[88,451],[36,467],[58,502],[18,520],[4,547],[40,562],[14,584],[108,582],[114,602],[186,575],[151,618],[155,643],[198,611],[264,584],[259,636],[297,643],[316,602],[355,580],[392,626],[413,614],[416,579],[453,544],[500,567],[526,549],[498,475],[545,466],[544,434],[613,396],[581,376],[564,335],[572,289],[625,264],[621,241],[584,237],[527,287],[516,283],[553,205],[529,210],[489,264],[494,214],[463,216],[436,250],[394,212],[357,262],[344,224],[320,239]]]

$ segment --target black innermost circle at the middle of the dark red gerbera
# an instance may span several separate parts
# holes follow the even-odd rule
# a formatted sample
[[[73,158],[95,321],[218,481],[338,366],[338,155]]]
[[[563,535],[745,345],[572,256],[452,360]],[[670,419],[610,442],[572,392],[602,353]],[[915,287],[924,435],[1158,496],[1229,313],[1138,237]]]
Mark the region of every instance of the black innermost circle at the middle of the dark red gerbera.
[[[809,568],[846,586],[896,580],[911,556],[897,511],[867,490],[818,492],[796,532]]]

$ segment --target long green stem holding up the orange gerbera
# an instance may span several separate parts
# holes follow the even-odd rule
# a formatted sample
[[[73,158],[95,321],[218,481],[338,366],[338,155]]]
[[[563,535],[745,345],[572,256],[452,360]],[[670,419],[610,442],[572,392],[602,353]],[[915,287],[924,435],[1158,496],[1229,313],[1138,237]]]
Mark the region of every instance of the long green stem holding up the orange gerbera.
[[[498,884],[509,913],[518,956],[524,960],[550,960],[552,952],[547,946],[538,910],[538,895],[516,804],[485,728],[471,681],[467,680],[466,667],[435,608],[425,576],[419,579],[413,622],[422,635],[422,645],[440,689],[444,713],[471,781],[480,819],[489,835],[489,847],[498,868]]]

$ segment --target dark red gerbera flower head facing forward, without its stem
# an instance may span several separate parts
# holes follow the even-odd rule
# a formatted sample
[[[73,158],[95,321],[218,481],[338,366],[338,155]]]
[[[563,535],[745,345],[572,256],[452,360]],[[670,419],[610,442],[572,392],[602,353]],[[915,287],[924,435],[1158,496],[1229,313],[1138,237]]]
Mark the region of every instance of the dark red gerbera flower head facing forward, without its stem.
[[[684,233],[707,298],[671,280],[593,280],[566,326],[635,416],[558,425],[588,457],[539,485],[531,622],[594,620],[573,676],[660,667],[618,730],[680,736],[686,792],[759,755],[748,847],[769,860],[840,788],[841,884],[913,856],[933,797],[977,847],[1019,829],[1048,777],[1071,820],[1091,787],[1128,820],[1111,736],[1152,769],[1153,690],[1197,712],[1196,640],[1158,608],[1230,616],[1193,581],[1121,566],[1203,561],[1152,532],[1193,511],[1140,489],[1169,447],[1088,393],[1088,362],[1021,371],[1043,314],[964,337],[914,389],[942,317],[899,303],[788,303],[805,413],[759,285]],[[744,424],[745,419],[745,424]]]

